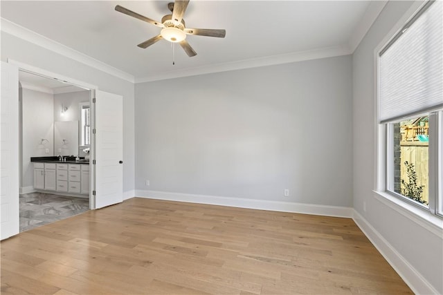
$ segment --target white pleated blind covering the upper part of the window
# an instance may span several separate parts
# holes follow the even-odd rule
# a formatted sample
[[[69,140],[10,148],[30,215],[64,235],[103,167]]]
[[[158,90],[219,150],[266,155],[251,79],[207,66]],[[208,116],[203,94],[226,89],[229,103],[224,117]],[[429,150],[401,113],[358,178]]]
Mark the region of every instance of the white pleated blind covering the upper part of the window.
[[[428,3],[381,50],[379,122],[443,106],[443,1]]]

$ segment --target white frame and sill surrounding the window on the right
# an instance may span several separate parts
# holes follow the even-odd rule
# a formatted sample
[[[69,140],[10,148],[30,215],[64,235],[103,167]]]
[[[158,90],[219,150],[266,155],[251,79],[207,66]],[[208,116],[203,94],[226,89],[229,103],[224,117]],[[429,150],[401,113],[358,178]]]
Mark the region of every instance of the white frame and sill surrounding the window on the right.
[[[412,213],[408,216],[414,219],[419,217],[421,220],[431,222],[431,224],[438,228],[443,228],[443,110],[429,110],[422,111],[421,113],[410,114],[405,118],[394,118],[389,122],[379,122],[379,62],[380,53],[386,48],[388,44],[392,44],[392,41],[398,35],[398,33],[404,28],[406,23],[409,23],[412,19],[416,18],[417,12],[426,6],[426,2],[415,1],[406,14],[401,17],[397,24],[388,32],[385,38],[380,42],[379,46],[374,49],[374,109],[376,115],[374,116],[374,142],[376,144],[375,153],[375,169],[374,169],[374,193],[376,197],[382,202],[389,204],[397,211],[404,213]],[[395,41],[395,40],[394,40]],[[425,113],[424,113],[425,112]],[[393,135],[391,125],[395,122],[407,119],[408,117],[419,117],[420,115],[430,115],[429,119],[429,204],[428,207],[419,204],[414,200],[409,200],[407,197],[402,196],[399,193],[395,193],[389,188],[390,185],[390,172],[393,169],[393,162],[390,161],[393,158],[393,140],[390,140]],[[433,119],[431,119],[431,117]],[[432,132],[432,133],[431,133]],[[431,140],[433,137],[433,140]],[[432,147],[431,147],[432,145]],[[437,163],[440,163],[437,164]],[[431,172],[433,171],[433,172]],[[432,174],[432,175],[431,175]],[[392,180],[393,181],[393,180]],[[392,186],[393,187],[393,186]],[[431,197],[431,193],[433,196]],[[381,197],[381,198],[380,198]],[[432,198],[432,201],[431,201]],[[388,202],[386,202],[388,200]],[[401,209],[399,208],[401,207]]]

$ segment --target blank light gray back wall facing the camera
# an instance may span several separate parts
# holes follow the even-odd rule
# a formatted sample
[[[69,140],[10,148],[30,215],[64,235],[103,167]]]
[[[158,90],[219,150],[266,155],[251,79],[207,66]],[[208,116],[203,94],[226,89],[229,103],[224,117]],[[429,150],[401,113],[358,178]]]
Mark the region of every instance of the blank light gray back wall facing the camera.
[[[351,56],[136,84],[136,189],[352,207],[351,120]]]

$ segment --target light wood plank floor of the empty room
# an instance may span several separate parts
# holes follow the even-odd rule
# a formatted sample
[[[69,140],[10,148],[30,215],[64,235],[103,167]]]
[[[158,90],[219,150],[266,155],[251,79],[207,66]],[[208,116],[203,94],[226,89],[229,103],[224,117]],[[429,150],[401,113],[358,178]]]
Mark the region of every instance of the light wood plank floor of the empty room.
[[[1,294],[412,293],[351,219],[132,198],[1,242]]]

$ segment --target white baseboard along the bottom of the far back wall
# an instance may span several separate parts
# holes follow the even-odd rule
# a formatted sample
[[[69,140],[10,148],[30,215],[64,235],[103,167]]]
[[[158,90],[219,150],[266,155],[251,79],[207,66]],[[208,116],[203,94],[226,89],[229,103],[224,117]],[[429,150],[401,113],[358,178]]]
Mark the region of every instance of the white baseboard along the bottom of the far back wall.
[[[351,207],[324,206],[318,204],[302,204],[296,202],[255,200],[255,199],[245,199],[245,198],[228,198],[220,196],[204,196],[204,195],[194,195],[190,193],[170,193],[165,191],[136,190],[135,196],[140,198],[150,198],[157,200],[170,200],[170,201],[191,202],[199,204],[213,204],[213,205],[221,205],[228,207],[304,213],[304,214],[345,217],[345,218],[352,218],[352,211],[353,211]]]

